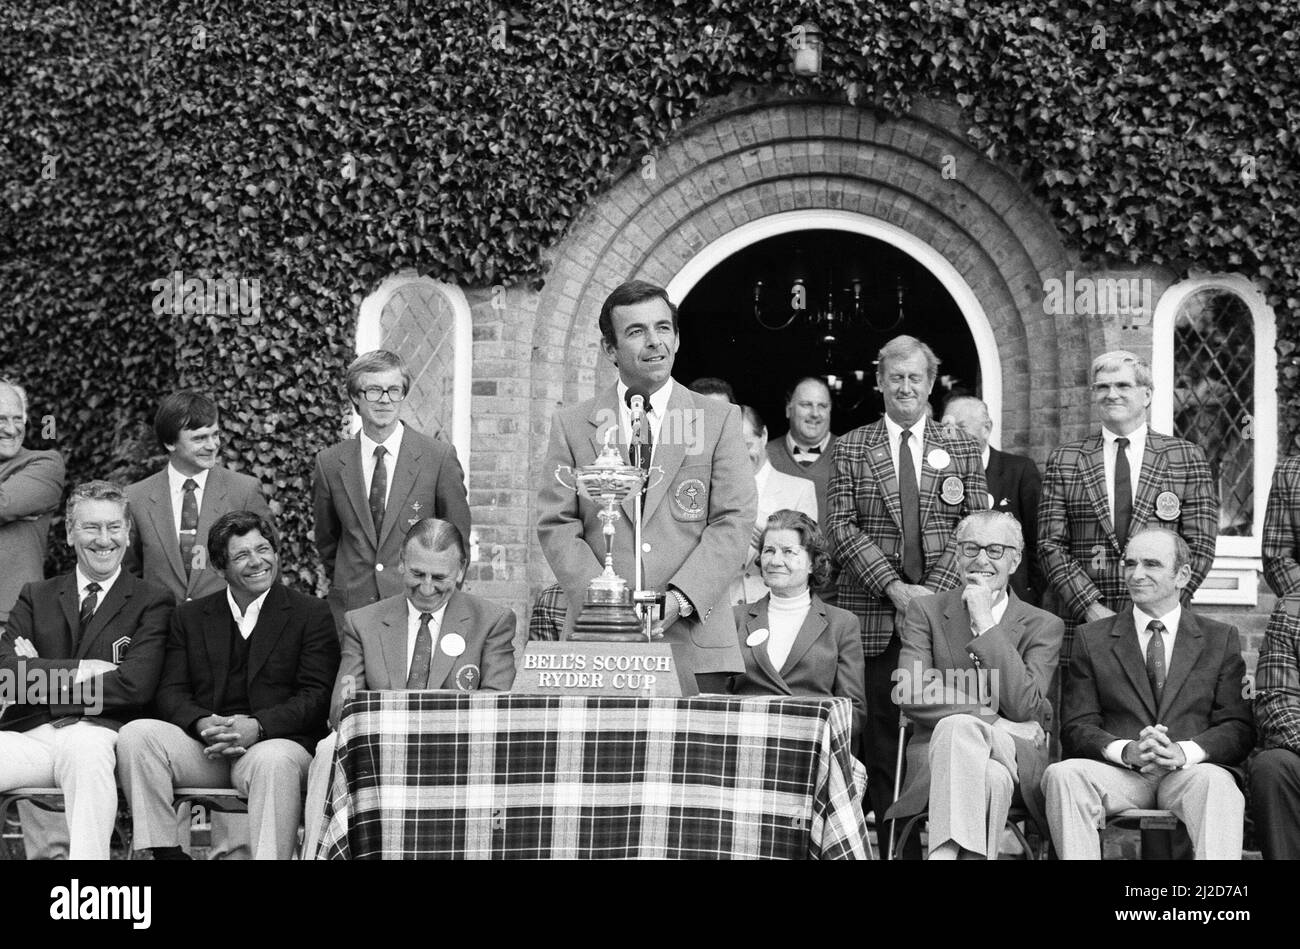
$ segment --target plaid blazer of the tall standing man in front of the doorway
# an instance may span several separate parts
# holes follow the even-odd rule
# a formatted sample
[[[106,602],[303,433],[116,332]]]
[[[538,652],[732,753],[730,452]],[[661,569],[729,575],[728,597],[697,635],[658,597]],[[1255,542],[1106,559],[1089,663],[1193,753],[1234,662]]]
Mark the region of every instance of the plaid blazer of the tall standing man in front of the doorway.
[[[941,471],[931,465],[935,448],[949,455]],[[944,481],[953,476],[962,480],[963,491],[959,500],[949,504],[941,494]],[[988,485],[979,445],[961,433],[949,436],[927,420],[920,463],[922,582],[935,593],[950,590],[961,581],[953,551],[958,521],[987,507]],[[902,514],[884,420],[836,441],[827,508],[827,537],[840,562],[836,604],[862,623],[866,656],[880,655],[896,624],[902,621],[885,595],[889,584],[902,580]]]

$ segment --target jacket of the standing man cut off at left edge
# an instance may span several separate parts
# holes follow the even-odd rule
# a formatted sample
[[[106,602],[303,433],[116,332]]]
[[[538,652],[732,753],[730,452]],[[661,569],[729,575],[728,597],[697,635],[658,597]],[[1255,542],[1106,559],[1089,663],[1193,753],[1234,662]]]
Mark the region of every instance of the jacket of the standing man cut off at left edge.
[[[64,497],[57,451],[20,448],[0,462],[0,629],[23,584],[46,576],[49,517]]]

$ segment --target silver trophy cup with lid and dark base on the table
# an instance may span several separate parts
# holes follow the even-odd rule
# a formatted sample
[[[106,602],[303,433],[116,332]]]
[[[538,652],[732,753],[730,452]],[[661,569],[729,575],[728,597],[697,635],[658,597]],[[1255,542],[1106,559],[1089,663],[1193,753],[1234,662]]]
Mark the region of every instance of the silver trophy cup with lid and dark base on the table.
[[[636,528],[640,533],[641,494],[649,474],[640,465],[624,464],[619,450],[610,443],[607,432],[604,447],[592,464],[569,469],[567,465],[555,472],[556,480],[584,498],[601,506],[597,516],[601,519],[604,536],[604,571],[586,589],[582,612],[578,614],[569,640],[588,642],[649,642],[651,628],[662,615],[663,594],[628,589],[628,581],[614,572],[614,524],[619,520],[619,506],[629,497],[636,500]],[[562,471],[571,471],[573,484],[568,484]],[[637,538],[637,576],[641,585],[641,542]],[[642,606],[642,619],[637,618],[633,603]]]

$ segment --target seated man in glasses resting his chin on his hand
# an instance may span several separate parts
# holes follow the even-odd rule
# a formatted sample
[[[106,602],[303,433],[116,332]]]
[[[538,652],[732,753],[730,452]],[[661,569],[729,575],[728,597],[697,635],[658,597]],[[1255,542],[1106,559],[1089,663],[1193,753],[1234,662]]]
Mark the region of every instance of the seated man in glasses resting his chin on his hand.
[[[997,859],[1017,786],[1046,826],[1039,781],[1065,623],[1009,588],[1023,550],[1013,515],[970,514],[956,542],[965,589],[907,604],[894,681],[915,732],[907,788],[887,816],[928,802],[931,859]]]

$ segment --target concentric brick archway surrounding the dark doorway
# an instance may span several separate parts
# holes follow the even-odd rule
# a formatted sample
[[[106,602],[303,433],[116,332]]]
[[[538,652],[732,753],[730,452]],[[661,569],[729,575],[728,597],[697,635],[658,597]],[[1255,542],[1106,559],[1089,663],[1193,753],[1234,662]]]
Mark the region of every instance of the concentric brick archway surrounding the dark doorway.
[[[905,231],[968,287],[996,339],[1004,447],[1043,462],[1052,446],[1082,436],[1089,407],[1062,395],[1086,385],[1101,335],[1043,308],[1044,280],[1072,259],[1015,178],[950,131],[959,127],[958,112],[927,103],[881,120],[846,104],[768,101],[697,122],[642,159],[551,255],[536,308],[533,432],[549,429],[558,404],[614,381],[595,315],[620,282],[668,286],[732,231],[784,212],[836,211]],[[542,434],[533,484],[547,477],[545,450]],[[543,581],[536,537],[532,549],[530,578]]]

